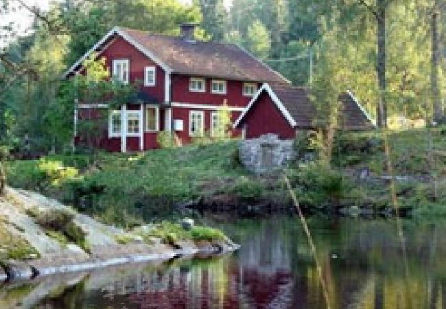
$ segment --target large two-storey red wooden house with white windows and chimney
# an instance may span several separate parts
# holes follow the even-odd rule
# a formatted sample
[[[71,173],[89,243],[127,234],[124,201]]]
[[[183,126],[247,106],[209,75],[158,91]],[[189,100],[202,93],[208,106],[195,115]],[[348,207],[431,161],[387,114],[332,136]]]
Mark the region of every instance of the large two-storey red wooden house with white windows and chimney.
[[[157,148],[161,130],[174,131],[183,143],[212,136],[224,102],[235,121],[261,84],[289,83],[241,47],[196,41],[193,32],[189,24],[181,27],[179,37],[115,27],[65,73],[66,78],[81,73],[82,62],[97,52],[106,58],[113,77],[124,83],[142,81],[137,101],[123,102],[121,109],[109,112],[101,148],[113,152]],[[75,126],[97,108],[108,106],[79,104]],[[239,133],[235,129],[233,135]]]

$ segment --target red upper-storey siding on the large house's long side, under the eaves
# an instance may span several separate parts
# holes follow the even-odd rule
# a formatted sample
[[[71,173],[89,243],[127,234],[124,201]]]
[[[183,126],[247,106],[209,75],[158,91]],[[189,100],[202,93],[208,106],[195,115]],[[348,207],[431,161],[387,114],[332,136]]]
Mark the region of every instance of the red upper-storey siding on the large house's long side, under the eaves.
[[[200,76],[193,76],[198,77]],[[248,105],[252,97],[243,95],[244,82],[236,80],[226,80],[226,94],[211,93],[211,81],[213,78],[205,78],[206,92],[189,91],[190,76],[172,76],[172,102],[189,103],[189,104],[209,104],[221,105],[224,99],[227,99],[228,106],[245,107]],[[219,78],[215,78],[218,80]],[[223,79],[224,80],[224,79]]]

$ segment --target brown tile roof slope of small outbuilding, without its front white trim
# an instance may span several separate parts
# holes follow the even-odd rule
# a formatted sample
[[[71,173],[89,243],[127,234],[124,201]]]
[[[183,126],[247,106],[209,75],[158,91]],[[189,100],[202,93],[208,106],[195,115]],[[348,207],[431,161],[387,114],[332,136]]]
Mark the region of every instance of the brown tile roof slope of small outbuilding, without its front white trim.
[[[274,94],[285,106],[286,110],[298,128],[314,128],[316,118],[316,107],[314,106],[309,89],[305,87],[291,87],[279,84],[270,84]],[[364,110],[355,102],[349,93],[340,95],[342,102],[342,116],[339,126],[347,130],[366,130],[373,128],[373,123]]]

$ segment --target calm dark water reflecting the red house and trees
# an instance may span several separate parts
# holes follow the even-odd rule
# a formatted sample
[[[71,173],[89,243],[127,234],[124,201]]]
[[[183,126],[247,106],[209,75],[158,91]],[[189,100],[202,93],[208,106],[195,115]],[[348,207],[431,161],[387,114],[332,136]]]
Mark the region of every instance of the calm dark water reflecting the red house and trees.
[[[298,220],[220,225],[242,249],[0,285],[0,308],[326,308]],[[312,219],[332,308],[446,308],[446,221]]]

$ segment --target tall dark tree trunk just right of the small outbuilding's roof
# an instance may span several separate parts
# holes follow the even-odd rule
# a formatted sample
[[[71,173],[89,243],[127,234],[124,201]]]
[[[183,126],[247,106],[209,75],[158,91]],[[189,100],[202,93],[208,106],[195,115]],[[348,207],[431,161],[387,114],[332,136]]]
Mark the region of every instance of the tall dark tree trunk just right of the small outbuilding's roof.
[[[387,127],[386,103],[386,0],[377,0],[377,77],[379,84],[379,102],[377,105],[377,126]]]

